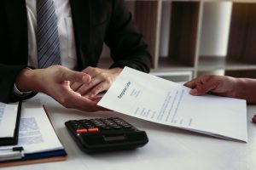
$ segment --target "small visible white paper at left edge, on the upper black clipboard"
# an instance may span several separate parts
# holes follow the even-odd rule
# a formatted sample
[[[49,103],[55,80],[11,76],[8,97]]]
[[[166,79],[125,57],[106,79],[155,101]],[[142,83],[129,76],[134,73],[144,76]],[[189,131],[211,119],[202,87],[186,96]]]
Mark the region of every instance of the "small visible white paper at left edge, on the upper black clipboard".
[[[15,127],[18,111],[18,103],[0,103],[0,137],[9,138],[15,136]]]

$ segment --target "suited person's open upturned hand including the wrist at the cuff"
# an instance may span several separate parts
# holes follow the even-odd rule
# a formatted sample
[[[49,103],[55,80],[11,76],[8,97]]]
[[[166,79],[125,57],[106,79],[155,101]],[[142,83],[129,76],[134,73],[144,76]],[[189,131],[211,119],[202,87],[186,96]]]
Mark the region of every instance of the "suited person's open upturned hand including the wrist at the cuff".
[[[46,69],[25,69],[16,79],[20,91],[36,91],[48,94],[66,108],[80,111],[102,111],[97,101],[84,98],[70,88],[70,82],[89,83],[91,77],[84,72],[71,71],[61,65]]]

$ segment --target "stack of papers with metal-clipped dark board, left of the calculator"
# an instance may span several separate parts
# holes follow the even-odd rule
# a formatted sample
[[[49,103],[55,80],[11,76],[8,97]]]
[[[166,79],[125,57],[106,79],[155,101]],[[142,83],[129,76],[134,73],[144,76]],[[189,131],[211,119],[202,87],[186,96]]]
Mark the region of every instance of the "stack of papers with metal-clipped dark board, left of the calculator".
[[[20,150],[22,148],[23,150]],[[60,161],[67,155],[39,100],[22,103],[19,142],[0,147],[0,167]]]

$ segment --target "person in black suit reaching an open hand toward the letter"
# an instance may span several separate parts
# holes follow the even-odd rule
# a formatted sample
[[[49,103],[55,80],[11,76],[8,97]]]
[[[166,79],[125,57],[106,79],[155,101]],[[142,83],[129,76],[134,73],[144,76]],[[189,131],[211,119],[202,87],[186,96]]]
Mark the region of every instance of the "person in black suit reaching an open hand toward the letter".
[[[149,71],[148,46],[123,0],[54,0],[58,17],[70,14],[67,19],[71,20],[72,31],[63,32],[67,37],[71,35],[73,41],[66,43],[72,44],[67,50],[63,45],[65,37],[60,36],[63,65],[38,69],[33,24],[36,2],[3,0],[0,5],[1,102],[28,99],[42,92],[67,108],[99,111],[102,108],[96,106],[96,94],[108,90],[123,67]],[[96,67],[103,42],[113,59],[108,70]],[[68,59],[73,59],[71,65]]]

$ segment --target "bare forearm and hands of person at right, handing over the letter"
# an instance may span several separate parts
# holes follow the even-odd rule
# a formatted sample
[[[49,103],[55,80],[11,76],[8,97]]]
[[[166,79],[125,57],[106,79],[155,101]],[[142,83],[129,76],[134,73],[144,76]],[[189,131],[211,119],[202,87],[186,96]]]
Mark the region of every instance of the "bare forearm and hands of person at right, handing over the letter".
[[[184,86],[192,88],[190,90],[192,95],[216,94],[246,99],[247,103],[256,103],[255,79],[204,75],[184,83]],[[256,115],[252,117],[252,122],[256,123]]]

